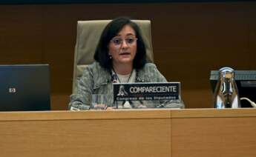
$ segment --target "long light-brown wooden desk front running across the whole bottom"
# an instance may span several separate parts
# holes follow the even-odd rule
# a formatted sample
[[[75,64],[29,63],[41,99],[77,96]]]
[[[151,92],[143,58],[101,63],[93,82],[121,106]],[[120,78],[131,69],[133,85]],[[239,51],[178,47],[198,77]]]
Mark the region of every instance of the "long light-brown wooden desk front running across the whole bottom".
[[[256,110],[0,113],[5,156],[256,156]]]

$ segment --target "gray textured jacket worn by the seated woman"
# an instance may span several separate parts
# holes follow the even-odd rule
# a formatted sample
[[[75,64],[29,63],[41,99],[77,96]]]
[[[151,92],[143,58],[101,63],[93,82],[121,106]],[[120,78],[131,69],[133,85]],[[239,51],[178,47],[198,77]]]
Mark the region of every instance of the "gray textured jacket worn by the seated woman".
[[[157,70],[153,63],[147,63],[137,71],[136,82],[166,82],[165,77]],[[77,93],[70,96],[69,108],[77,110],[89,110],[92,94],[105,94],[108,98],[108,106],[114,105],[113,84],[111,73],[102,68],[98,62],[85,67],[82,77],[76,85]],[[170,103],[170,101],[147,101],[146,107],[173,107],[183,108],[181,103]]]

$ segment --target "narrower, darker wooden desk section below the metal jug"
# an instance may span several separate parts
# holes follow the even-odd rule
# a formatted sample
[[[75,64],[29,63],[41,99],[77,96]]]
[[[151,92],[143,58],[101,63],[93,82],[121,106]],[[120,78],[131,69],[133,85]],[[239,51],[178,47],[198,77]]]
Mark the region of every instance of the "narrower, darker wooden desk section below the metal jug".
[[[256,110],[172,112],[172,156],[256,156]]]

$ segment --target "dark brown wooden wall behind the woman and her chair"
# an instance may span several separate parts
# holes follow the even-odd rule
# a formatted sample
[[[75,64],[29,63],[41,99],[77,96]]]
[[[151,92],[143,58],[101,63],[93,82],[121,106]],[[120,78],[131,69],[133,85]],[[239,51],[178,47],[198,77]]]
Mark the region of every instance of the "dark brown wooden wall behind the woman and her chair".
[[[76,21],[150,19],[154,61],[181,81],[186,107],[212,107],[210,70],[256,67],[256,3],[0,5],[0,64],[50,64],[51,105],[66,110]]]

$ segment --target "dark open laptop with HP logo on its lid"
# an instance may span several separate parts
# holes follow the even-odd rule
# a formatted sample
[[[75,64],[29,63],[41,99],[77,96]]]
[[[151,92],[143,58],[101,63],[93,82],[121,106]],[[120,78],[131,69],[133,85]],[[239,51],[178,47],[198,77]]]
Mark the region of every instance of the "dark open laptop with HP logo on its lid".
[[[49,65],[0,65],[0,96],[0,111],[50,110]]]

